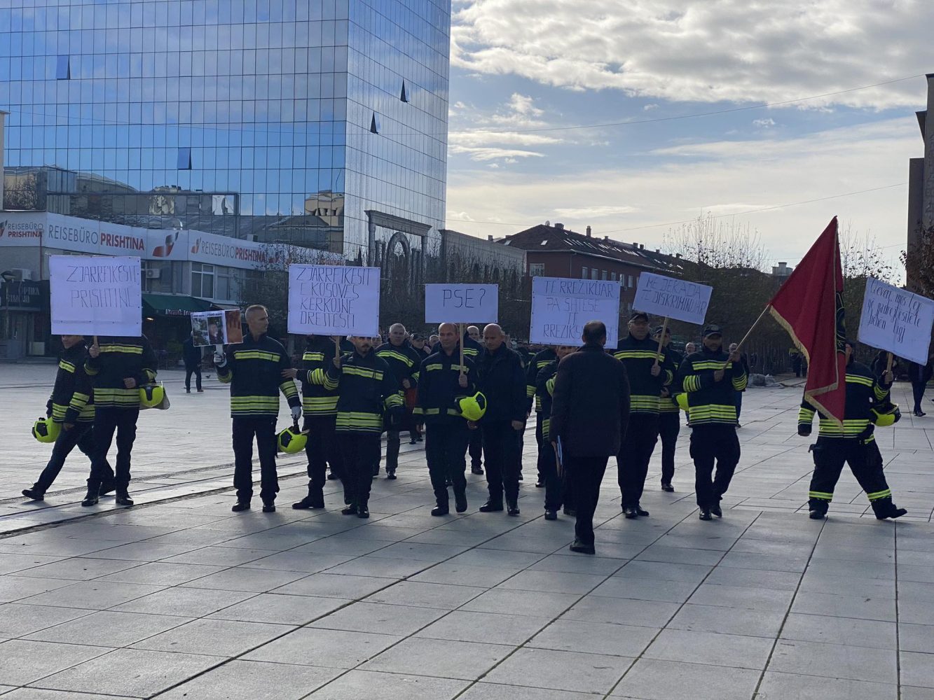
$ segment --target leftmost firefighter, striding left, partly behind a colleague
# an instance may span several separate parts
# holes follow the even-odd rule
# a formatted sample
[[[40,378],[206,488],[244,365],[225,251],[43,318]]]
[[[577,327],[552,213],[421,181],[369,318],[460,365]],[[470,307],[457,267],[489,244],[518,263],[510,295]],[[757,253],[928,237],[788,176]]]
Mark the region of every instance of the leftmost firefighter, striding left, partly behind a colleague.
[[[46,415],[60,427],[49,464],[39,474],[32,488],[23,489],[22,495],[33,500],[43,500],[55,477],[64,467],[65,458],[77,446],[91,457],[94,447],[94,399],[91,380],[84,371],[84,360],[88,348],[80,335],[63,335],[64,349],[59,353],[58,373],[52,395],[46,404]],[[99,495],[114,490],[114,472],[106,464],[106,478],[101,483]]]

